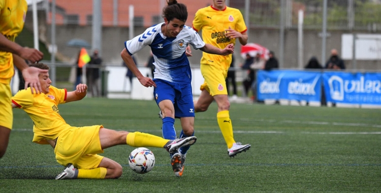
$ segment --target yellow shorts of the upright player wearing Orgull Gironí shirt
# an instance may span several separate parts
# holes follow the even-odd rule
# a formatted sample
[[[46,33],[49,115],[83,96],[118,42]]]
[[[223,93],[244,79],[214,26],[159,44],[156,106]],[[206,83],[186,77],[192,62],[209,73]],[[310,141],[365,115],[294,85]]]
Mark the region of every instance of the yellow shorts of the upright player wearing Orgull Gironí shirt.
[[[217,94],[228,94],[225,82],[228,70],[218,69],[215,66],[203,64],[201,64],[200,69],[201,74],[205,79],[204,83],[200,86],[200,90],[206,89],[212,96]]]

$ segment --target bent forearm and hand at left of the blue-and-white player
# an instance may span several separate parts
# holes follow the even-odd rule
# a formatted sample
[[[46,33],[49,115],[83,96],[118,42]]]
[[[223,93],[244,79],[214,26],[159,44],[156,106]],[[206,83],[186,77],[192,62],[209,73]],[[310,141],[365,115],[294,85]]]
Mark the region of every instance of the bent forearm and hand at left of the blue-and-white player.
[[[142,75],[142,73],[139,71],[138,67],[136,67],[136,64],[134,60],[132,59],[132,56],[127,52],[127,50],[124,48],[122,52],[120,53],[120,56],[122,57],[124,63],[127,65],[127,67],[131,70],[132,73],[138,78],[140,84],[142,84],[145,87],[156,87],[155,82],[153,82],[152,79],[145,77]]]

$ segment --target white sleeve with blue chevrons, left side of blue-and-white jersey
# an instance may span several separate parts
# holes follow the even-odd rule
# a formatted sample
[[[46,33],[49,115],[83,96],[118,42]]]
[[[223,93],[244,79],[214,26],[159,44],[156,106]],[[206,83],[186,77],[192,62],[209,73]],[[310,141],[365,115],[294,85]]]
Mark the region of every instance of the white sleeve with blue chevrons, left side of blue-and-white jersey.
[[[155,27],[146,29],[143,34],[133,38],[132,40],[124,42],[125,49],[130,55],[137,53],[145,46],[152,43],[155,32]]]

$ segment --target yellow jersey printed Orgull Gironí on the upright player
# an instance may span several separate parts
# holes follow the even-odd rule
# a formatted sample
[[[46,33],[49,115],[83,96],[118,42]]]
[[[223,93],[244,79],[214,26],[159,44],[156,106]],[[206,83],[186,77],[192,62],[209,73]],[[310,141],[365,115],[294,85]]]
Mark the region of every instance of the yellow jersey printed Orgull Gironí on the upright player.
[[[217,10],[213,6],[209,6],[199,9],[193,20],[193,28],[196,31],[202,30],[203,41],[220,49],[236,42],[235,39],[229,39],[225,35],[229,27],[240,33],[247,30],[243,16],[238,9],[226,7],[224,10]],[[201,58],[201,63],[224,70],[229,69],[231,62],[231,54],[221,56],[203,52]]]

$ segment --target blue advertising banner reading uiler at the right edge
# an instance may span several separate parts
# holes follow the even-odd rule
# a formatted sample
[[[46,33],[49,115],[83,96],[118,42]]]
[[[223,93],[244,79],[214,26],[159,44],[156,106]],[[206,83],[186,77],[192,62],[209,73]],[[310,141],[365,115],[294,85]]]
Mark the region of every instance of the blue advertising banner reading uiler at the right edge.
[[[381,105],[381,73],[324,72],[327,102]]]

